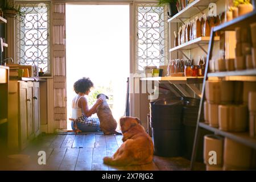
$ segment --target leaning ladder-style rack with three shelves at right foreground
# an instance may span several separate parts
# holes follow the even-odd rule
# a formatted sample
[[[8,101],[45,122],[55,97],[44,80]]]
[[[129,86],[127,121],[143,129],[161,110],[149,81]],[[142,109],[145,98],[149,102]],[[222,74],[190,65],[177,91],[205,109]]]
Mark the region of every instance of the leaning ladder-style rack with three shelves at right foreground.
[[[216,72],[216,73],[208,73],[209,69],[209,60],[212,58],[212,49],[214,42],[214,32],[216,31],[230,31],[234,30],[236,27],[249,27],[250,23],[256,22],[256,11],[254,10],[252,13],[240,16],[236,19],[231,20],[230,22],[226,22],[221,24],[220,26],[212,28],[211,36],[210,36],[210,44],[209,51],[207,55],[207,63],[205,67],[205,76],[203,82],[203,88],[201,93],[201,101],[199,106],[199,113],[197,117],[197,126],[196,126],[196,134],[195,140],[193,144],[192,158],[191,158],[191,169],[193,169],[193,165],[196,159],[197,146],[198,146],[198,138],[199,138],[199,127],[207,129],[209,131],[214,132],[215,134],[222,135],[229,139],[240,142],[246,146],[252,147],[256,149],[256,139],[249,137],[249,133],[230,133],[226,131],[219,130],[217,128],[211,127],[203,122],[200,122],[200,114],[203,108],[204,103],[204,90],[205,90],[205,82],[207,79],[217,77],[217,78],[227,78],[228,80],[240,80],[240,81],[255,81],[256,80],[256,69],[247,69],[243,71],[232,71],[232,72]]]

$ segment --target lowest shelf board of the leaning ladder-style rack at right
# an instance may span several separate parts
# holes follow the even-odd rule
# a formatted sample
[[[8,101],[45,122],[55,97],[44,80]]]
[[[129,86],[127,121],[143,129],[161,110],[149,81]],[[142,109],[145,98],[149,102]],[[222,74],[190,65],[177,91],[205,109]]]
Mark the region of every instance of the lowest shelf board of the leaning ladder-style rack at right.
[[[253,147],[254,149],[256,149],[256,138],[250,137],[248,132],[230,133],[227,131],[219,130],[215,127],[211,127],[205,123],[199,123],[199,126],[203,127],[204,129],[207,129],[209,131],[212,131],[215,134],[222,135],[224,137],[227,137],[229,139],[235,140],[237,142],[245,144],[246,146]]]

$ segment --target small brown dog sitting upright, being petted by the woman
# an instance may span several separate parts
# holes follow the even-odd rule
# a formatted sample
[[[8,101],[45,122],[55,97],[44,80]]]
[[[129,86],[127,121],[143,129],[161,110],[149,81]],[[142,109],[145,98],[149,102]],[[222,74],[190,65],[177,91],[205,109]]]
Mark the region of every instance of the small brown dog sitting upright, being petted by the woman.
[[[117,128],[117,121],[113,118],[112,111],[106,102],[109,97],[101,93],[97,95],[97,98],[101,98],[103,100],[102,104],[97,107],[97,116],[98,119],[100,119],[101,131],[103,131],[104,134],[121,135],[121,133],[115,131]]]

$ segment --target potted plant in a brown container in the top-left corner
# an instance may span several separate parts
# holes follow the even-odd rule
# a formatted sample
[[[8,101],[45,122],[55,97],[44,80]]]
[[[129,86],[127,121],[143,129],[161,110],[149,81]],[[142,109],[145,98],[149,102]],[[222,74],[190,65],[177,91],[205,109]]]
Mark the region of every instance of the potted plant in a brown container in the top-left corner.
[[[10,5],[9,2],[5,1],[5,6],[3,6],[3,15],[11,18],[16,18],[17,16],[23,18],[26,15],[26,11],[22,11],[20,5]]]

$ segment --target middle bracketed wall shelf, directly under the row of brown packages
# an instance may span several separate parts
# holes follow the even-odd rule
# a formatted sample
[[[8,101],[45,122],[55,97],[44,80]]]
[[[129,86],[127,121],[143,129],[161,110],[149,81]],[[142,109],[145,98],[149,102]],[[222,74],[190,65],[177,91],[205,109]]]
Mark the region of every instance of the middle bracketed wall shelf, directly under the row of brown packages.
[[[216,38],[214,38],[214,40],[218,41],[218,40],[220,40],[220,37],[217,36]],[[196,48],[196,47],[200,47],[200,45],[202,45],[202,44],[208,45],[209,42],[210,42],[210,37],[209,36],[201,36],[200,38],[190,40],[189,42],[181,44],[180,46],[176,46],[174,48],[171,48],[170,52],[193,49],[193,48]],[[207,51],[205,51],[205,52],[207,53]]]

